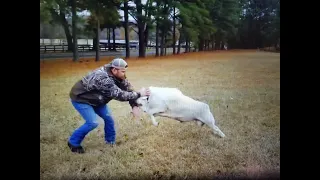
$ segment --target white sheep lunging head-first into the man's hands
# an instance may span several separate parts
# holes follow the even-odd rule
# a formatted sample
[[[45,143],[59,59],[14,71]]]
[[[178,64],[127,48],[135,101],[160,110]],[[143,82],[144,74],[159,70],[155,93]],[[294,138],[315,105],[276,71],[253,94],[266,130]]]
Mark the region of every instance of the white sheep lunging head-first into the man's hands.
[[[155,117],[162,116],[180,122],[197,121],[202,126],[207,124],[213,133],[220,137],[225,134],[215,125],[215,119],[209,105],[184,95],[177,88],[149,87],[150,96],[140,97],[136,100],[139,107],[147,113],[153,125],[158,126]]]

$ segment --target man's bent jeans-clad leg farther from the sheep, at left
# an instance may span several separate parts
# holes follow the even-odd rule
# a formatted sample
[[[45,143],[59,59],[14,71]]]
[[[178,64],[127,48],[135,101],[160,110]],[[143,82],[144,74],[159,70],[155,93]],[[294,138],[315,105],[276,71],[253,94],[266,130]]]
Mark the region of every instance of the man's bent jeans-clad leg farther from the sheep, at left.
[[[92,106],[83,103],[71,102],[73,107],[80,113],[85,123],[76,129],[69,139],[69,144],[74,148],[81,147],[81,142],[85,136],[95,129],[99,124],[97,122],[97,117]]]

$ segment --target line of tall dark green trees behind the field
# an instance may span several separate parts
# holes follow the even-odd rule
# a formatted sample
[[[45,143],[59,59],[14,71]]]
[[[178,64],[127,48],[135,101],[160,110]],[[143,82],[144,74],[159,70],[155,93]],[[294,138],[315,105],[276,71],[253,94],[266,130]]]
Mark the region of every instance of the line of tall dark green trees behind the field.
[[[191,44],[196,51],[223,49],[225,44],[228,49],[280,47],[280,0],[40,0],[40,23],[63,27],[74,60],[78,59],[77,25],[83,21],[77,12],[82,11],[90,12],[85,32],[94,39],[97,61],[101,31],[114,33],[119,27],[125,29],[126,57],[130,57],[129,15],[136,22],[139,57],[146,56],[152,32],[156,56],[164,55],[166,46],[179,54],[182,43],[185,52],[191,51]]]

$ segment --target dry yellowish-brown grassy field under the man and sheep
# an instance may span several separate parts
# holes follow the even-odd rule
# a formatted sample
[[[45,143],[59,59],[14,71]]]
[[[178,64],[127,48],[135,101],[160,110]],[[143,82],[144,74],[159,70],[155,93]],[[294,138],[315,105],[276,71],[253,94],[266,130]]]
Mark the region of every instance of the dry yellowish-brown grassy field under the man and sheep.
[[[177,87],[209,104],[225,138],[208,126],[149,117],[133,120],[126,102],[111,101],[116,147],[104,144],[103,121],[73,154],[67,140],[84,121],[69,102],[73,84],[109,62],[40,63],[41,179],[280,178],[280,54],[193,53],[129,59],[127,76],[140,89]]]

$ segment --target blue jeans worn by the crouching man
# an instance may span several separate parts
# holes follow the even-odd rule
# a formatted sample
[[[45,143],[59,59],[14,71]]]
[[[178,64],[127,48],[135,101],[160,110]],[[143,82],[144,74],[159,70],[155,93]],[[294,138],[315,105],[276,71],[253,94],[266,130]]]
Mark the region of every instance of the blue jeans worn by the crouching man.
[[[73,107],[80,113],[85,123],[76,129],[70,139],[69,143],[73,146],[80,146],[85,136],[96,127],[99,123],[97,116],[104,120],[104,134],[106,143],[113,143],[116,139],[116,131],[114,128],[114,120],[111,116],[111,111],[107,105],[94,107],[89,104],[78,103],[71,101]]]

